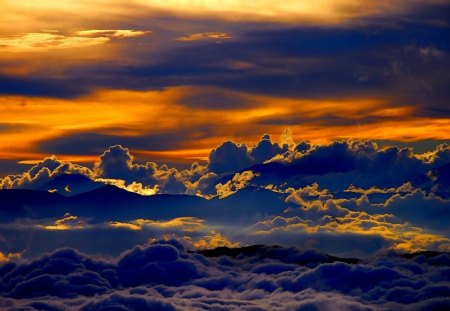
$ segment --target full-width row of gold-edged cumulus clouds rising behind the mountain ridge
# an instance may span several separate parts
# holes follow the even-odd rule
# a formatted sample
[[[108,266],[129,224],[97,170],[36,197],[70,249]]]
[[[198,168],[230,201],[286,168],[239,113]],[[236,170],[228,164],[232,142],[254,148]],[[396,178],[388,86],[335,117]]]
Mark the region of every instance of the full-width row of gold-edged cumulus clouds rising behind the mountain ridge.
[[[411,192],[416,188],[445,193],[450,187],[449,150],[448,145],[442,144],[432,152],[415,154],[408,148],[379,147],[370,141],[339,141],[320,146],[286,141],[281,146],[266,134],[250,147],[227,141],[211,151],[206,165],[194,163],[179,170],[154,162],[137,163],[128,148],[116,145],[100,155],[93,170],[63,163],[53,156],[29,172],[1,179],[1,186],[37,189],[59,175],[70,173],[141,194],[187,193],[211,197],[217,194],[217,185],[232,183],[236,173],[248,170],[258,176],[253,185],[272,185],[283,191],[318,183],[331,191],[349,194],[361,193],[362,189],[367,194],[381,194]],[[73,192],[72,187],[69,189]],[[58,191],[66,192],[64,187]]]

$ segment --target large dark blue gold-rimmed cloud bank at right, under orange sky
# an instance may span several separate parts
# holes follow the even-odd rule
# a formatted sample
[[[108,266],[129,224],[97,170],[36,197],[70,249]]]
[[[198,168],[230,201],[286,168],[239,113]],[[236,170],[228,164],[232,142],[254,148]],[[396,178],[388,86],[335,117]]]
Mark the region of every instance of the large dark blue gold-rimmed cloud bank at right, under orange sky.
[[[438,146],[436,150],[440,151],[424,157],[408,148],[379,147],[371,141],[335,141],[316,145],[303,153],[278,156],[271,163],[250,169],[268,183],[300,187],[318,183],[332,191],[344,191],[350,185],[365,189],[399,188],[408,183],[410,187],[431,190],[433,183],[443,180],[433,175],[445,175],[448,165],[448,147]],[[439,156],[432,155],[435,153]],[[445,181],[440,187],[444,185]]]

